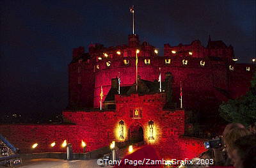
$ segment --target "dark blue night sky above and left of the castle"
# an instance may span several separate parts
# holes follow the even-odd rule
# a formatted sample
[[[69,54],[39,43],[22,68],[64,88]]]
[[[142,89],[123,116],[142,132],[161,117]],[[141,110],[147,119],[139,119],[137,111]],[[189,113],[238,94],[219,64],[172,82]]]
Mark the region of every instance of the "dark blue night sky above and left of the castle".
[[[161,2],[161,3],[160,3]],[[223,40],[241,63],[255,57],[255,1],[0,1],[0,117],[67,107],[72,48],[127,43],[134,4],[141,42],[160,49]]]

